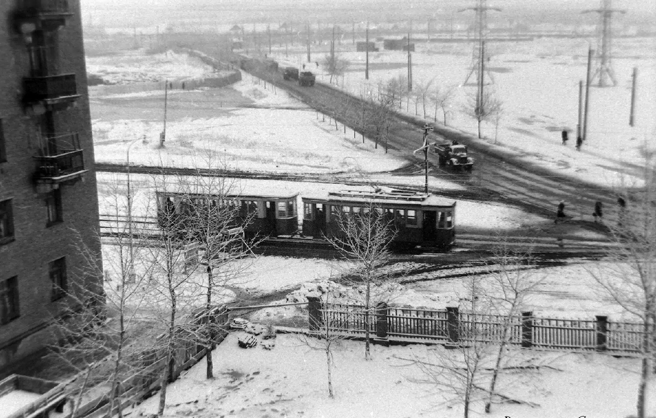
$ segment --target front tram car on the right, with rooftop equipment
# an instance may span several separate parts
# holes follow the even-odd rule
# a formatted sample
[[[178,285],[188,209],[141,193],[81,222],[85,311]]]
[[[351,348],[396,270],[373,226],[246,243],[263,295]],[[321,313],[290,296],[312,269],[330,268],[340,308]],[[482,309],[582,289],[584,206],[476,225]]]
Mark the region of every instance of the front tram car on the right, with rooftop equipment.
[[[447,250],[455,243],[455,200],[426,193],[378,189],[339,191],[317,197],[302,197],[303,235],[331,237],[343,234],[339,216],[377,210],[393,221],[397,248],[415,246]]]

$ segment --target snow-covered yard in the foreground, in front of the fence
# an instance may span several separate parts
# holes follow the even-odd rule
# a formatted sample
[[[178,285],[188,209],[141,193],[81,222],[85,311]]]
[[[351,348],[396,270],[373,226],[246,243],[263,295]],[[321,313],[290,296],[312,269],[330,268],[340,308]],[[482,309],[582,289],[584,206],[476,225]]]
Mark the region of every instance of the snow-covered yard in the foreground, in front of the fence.
[[[310,341],[312,343],[312,341]],[[425,379],[416,366],[400,358],[435,361],[442,347],[371,347],[365,361],[363,344],[342,342],[334,351],[335,398],[327,396],[325,352],[312,350],[295,335],[278,335],[271,351],[237,347],[231,333],[214,351],[215,379],[205,379],[201,360],[169,386],[165,417],[462,417],[462,406]],[[512,396],[539,404],[493,406],[491,418],[625,417],[634,412],[639,362],[598,354],[527,352],[549,366],[539,373],[514,373],[503,380]],[[521,355],[521,354],[520,354]],[[530,383],[528,382],[530,378]],[[653,388],[650,392],[653,394]],[[511,393],[506,390],[506,393]],[[154,413],[157,396],[136,407]],[[656,404],[651,401],[653,411]],[[473,412],[482,413],[475,402]]]

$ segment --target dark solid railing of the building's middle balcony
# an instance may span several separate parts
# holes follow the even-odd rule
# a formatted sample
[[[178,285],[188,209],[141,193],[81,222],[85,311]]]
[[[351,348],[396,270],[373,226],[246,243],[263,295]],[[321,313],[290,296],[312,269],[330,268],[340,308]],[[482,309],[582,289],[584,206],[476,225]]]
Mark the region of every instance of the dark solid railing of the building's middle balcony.
[[[68,102],[76,100],[77,82],[75,74],[48,75],[46,77],[26,77],[24,79],[26,103]]]

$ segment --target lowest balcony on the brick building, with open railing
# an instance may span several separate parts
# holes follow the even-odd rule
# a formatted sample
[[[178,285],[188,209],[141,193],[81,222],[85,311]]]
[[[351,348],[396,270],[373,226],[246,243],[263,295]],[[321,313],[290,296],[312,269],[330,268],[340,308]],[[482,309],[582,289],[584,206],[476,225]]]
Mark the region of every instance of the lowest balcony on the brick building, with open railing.
[[[77,134],[50,136],[47,142],[51,151],[34,157],[37,161],[34,178],[40,191],[56,189],[64,181],[79,180],[89,171],[85,169]]]

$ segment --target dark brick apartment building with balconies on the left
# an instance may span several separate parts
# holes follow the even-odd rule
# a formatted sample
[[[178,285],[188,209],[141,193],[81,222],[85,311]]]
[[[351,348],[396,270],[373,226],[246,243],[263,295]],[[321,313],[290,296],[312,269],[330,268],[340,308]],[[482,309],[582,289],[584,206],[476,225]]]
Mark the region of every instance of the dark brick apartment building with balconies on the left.
[[[79,0],[0,1],[0,374],[44,347],[73,278],[102,284],[80,269],[100,252],[86,74]]]

